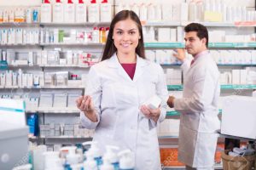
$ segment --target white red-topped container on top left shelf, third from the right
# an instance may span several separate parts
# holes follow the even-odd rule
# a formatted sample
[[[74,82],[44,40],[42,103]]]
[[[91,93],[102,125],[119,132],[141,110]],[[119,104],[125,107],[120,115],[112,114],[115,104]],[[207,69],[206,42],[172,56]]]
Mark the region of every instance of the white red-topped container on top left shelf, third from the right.
[[[87,9],[86,4],[83,0],[79,0],[79,3],[76,4],[76,23],[85,23],[87,18]]]

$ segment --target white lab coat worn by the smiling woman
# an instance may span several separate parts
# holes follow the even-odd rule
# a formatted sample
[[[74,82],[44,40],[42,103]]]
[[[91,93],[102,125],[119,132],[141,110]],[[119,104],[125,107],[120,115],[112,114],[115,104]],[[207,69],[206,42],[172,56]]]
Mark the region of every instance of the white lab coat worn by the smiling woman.
[[[98,122],[90,122],[81,112],[84,127],[96,129],[93,140],[102,152],[104,146],[117,145],[121,150],[130,149],[135,154],[137,170],[160,169],[160,150],[156,126],[166,117],[168,92],[166,78],[160,65],[137,56],[133,80],[119,64],[116,54],[89,71],[85,94],[92,96]],[[162,103],[157,123],[140,112],[140,106],[154,94]]]

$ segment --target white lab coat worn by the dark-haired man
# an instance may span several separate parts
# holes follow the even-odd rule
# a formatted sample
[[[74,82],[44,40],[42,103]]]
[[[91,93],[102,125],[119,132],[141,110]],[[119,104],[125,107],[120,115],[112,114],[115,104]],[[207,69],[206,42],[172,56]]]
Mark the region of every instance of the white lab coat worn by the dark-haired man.
[[[174,99],[174,109],[181,112],[178,159],[189,167],[212,167],[220,127],[218,67],[208,53],[188,69],[189,64],[182,65],[183,99]]]

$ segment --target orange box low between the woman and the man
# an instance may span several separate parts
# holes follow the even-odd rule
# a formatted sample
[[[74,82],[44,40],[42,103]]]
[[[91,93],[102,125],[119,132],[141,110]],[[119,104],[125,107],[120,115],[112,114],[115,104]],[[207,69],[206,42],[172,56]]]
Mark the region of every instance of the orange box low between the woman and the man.
[[[177,161],[177,148],[160,148],[161,164],[165,167],[183,167],[182,162]]]

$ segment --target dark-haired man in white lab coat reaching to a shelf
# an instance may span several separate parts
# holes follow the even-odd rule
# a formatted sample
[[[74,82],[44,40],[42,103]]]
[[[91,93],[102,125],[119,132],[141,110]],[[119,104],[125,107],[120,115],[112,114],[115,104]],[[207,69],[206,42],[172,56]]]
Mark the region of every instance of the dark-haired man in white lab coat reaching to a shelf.
[[[185,49],[193,56],[190,62],[184,50],[177,50],[183,61],[183,98],[170,96],[167,104],[181,113],[178,159],[187,169],[213,169],[219,129],[218,67],[207,51],[208,31],[205,26],[185,26]]]

